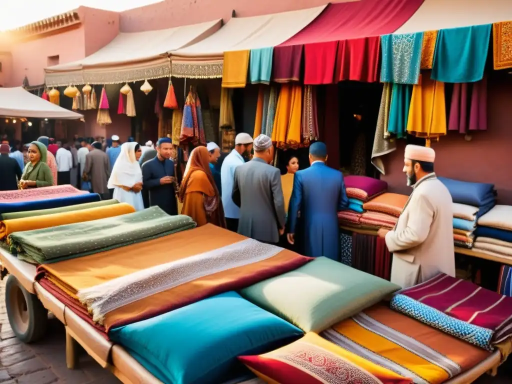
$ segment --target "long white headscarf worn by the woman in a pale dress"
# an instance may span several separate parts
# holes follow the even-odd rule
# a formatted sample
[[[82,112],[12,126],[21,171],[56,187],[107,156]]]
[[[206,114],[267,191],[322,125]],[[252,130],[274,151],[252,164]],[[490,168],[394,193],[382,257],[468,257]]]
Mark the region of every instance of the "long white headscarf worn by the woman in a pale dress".
[[[135,157],[136,142],[128,142],[121,145],[121,153],[117,158],[107,187],[114,188],[116,185],[133,187],[142,182],[142,170]]]

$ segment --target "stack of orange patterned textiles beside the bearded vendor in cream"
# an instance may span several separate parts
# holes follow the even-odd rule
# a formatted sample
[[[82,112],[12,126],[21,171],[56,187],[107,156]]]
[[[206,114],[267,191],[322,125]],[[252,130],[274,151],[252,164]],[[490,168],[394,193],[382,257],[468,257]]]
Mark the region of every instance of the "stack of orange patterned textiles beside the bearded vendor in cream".
[[[363,205],[366,212],[362,214],[360,223],[378,228],[393,229],[408,198],[406,195],[391,193],[377,196]]]

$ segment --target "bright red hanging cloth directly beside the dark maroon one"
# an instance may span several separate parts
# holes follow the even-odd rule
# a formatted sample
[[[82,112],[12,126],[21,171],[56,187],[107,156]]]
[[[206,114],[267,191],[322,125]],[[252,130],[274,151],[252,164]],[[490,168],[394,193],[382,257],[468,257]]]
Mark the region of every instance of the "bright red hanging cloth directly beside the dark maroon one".
[[[336,67],[337,41],[304,45],[304,84],[332,84]]]

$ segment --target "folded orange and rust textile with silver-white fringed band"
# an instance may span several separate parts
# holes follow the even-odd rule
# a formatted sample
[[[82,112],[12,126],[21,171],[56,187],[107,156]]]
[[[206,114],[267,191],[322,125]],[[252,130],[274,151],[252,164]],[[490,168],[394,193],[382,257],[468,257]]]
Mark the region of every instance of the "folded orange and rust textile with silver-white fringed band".
[[[105,221],[108,220],[111,219]],[[133,229],[141,232],[154,228],[151,221],[135,222],[141,225],[132,225]],[[183,226],[186,223],[193,224],[186,216],[167,216],[165,222],[174,222],[176,233],[132,241],[122,248],[102,242],[98,253],[40,265],[36,279],[104,334],[112,327],[247,287],[312,260],[212,224],[183,230],[187,228]],[[124,224],[123,233],[130,231],[129,226]],[[92,233],[96,232],[99,233],[98,229]],[[132,239],[135,233],[127,233],[127,238]],[[98,234],[95,239],[87,235],[77,241],[82,253],[95,246],[94,243],[112,238],[110,233]]]

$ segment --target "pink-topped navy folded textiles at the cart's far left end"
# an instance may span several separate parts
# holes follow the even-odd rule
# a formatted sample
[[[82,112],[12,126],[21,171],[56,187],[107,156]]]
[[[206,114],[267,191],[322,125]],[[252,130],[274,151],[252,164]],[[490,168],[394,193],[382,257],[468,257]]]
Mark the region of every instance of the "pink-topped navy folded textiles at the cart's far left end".
[[[66,207],[100,201],[98,194],[71,185],[19,189],[0,192],[0,215],[36,209]]]

